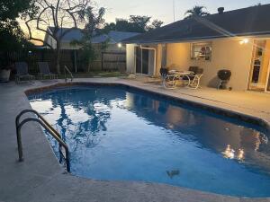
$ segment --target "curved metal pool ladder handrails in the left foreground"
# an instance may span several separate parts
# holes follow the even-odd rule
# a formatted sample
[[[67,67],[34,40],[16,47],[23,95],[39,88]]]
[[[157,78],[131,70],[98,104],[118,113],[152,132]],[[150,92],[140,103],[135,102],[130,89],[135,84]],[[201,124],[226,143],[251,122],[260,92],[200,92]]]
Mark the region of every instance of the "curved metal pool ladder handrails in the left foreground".
[[[23,121],[20,122],[20,118],[25,113],[33,113],[37,116],[37,118],[25,118]],[[27,122],[35,121],[38,122],[42,127],[49,132],[49,135],[54,137],[58,141],[59,144],[59,162],[62,163],[63,159],[66,162],[67,171],[70,172],[70,161],[69,161],[69,150],[67,144],[63,141],[58,131],[54,129],[52,126],[49,125],[47,120],[45,120],[36,110],[22,110],[16,117],[16,135],[17,135],[17,144],[18,144],[18,153],[19,153],[19,162],[23,162],[23,145],[22,145],[22,136],[21,136],[21,129],[24,124]],[[65,154],[62,151],[62,148],[65,149]]]

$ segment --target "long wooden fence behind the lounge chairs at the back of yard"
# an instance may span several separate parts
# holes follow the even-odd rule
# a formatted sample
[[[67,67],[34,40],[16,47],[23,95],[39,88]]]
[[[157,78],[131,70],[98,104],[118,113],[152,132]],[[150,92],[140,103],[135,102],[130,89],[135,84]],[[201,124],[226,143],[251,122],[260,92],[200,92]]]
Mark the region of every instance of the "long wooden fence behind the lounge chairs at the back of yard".
[[[126,53],[125,52],[96,52],[97,57],[86,66],[81,59],[81,50],[61,50],[60,65],[68,66],[71,72],[83,73],[88,71],[125,71],[126,69]],[[51,49],[24,49],[20,52],[0,52],[0,66],[12,65],[15,62],[27,62],[29,72],[38,74],[38,62],[48,62],[50,71],[56,73],[55,52]]]

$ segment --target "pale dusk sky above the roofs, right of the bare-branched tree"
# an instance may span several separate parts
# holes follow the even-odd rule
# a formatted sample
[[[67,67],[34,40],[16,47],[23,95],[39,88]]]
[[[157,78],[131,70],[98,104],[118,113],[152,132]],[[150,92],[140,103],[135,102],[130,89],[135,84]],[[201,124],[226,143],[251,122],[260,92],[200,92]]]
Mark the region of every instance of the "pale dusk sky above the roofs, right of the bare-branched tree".
[[[128,18],[130,14],[148,15],[165,23],[173,22],[173,0],[96,0],[98,6],[107,8],[105,19]],[[175,0],[175,20],[181,20],[186,10],[193,5],[203,5],[210,13],[217,13],[218,7],[225,11],[255,4],[270,4],[270,0]]]

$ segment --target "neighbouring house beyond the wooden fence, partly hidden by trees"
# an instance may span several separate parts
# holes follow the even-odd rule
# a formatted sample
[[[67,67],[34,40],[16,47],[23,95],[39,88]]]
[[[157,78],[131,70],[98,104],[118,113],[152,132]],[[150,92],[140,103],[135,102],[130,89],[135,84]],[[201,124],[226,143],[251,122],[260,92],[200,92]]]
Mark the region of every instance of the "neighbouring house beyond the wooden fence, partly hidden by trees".
[[[62,32],[67,31],[70,28],[62,28]],[[53,31],[53,27],[48,27],[47,31]],[[125,46],[121,46],[121,40],[128,39],[130,37],[134,37],[138,35],[137,32],[126,32],[126,31],[110,31],[107,34],[96,34],[92,39],[93,44],[102,44],[103,42],[107,42],[107,50],[108,51],[123,51],[125,50]],[[61,48],[62,49],[79,49],[78,45],[71,45],[70,43],[73,40],[81,40],[83,37],[83,32],[80,29],[75,29],[67,32],[67,34],[61,40]],[[51,38],[49,34],[45,35],[44,41],[48,43],[51,47],[56,48],[57,43],[56,40]]]

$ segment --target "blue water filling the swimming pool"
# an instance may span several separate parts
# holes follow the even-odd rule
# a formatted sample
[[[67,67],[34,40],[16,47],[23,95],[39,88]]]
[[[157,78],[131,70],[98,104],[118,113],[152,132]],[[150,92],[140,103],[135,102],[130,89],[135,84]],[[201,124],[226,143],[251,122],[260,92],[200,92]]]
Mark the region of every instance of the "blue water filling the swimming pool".
[[[29,99],[63,136],[77,176],[270,197],[270,147],[259,127],[116,86],[56,89]]]

